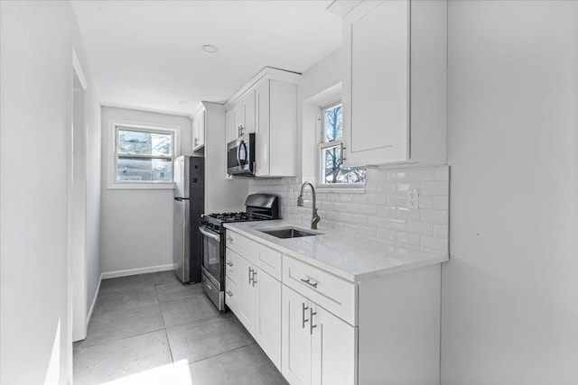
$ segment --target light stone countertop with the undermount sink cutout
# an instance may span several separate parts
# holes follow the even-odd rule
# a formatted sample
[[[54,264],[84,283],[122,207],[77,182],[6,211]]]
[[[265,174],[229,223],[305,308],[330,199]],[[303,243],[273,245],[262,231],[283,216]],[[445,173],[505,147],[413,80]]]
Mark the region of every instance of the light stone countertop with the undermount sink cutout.
[[[258,231],[275,227],[295,227],[320,235],[282,239]],[[352,282],[449,260],[446,253],[380,242],[336,230],[309,230],[284,220],[231,223],[225,224],[225,228]]]

